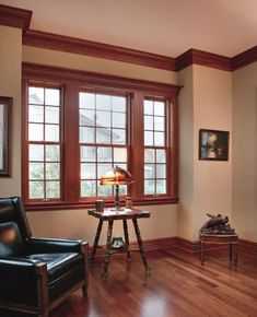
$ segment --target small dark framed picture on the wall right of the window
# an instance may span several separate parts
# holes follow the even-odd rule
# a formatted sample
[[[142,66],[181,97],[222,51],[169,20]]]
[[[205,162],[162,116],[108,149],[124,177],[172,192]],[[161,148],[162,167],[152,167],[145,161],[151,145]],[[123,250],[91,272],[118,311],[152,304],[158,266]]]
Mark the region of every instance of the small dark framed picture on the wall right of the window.
[[[230,132],[200,129],[199,160],[227,161]]]

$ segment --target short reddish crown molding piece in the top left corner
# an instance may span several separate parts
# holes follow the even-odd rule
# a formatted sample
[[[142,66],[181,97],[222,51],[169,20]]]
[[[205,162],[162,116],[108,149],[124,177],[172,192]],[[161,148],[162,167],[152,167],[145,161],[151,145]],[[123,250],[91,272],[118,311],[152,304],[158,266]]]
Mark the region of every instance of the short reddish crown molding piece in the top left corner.
[[[32,11],[0,4],[0,25],[22,28],[24,34],[30,27]]]

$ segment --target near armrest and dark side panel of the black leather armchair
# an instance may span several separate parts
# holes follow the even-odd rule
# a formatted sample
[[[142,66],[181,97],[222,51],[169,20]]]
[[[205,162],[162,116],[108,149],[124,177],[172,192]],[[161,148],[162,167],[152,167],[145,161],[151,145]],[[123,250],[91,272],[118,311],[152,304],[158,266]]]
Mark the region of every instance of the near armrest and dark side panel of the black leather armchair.
[[[30,259],[0,258],[0,302],[36,306],[38,268],[46,271],[46,265]]]

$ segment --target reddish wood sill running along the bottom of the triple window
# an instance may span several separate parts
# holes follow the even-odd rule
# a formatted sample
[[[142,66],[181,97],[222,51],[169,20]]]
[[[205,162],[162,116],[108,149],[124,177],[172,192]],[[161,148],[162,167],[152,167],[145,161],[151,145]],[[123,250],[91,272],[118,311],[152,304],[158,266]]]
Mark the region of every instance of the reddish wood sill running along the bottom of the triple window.
[[[160,197],[160,198],[145,198],[142,200],[133,200],[133,206],[157,206],[157,204],[175,204],[178,202],[177,197]],[[121,201],[120,206],[125,206]],[[94,208],[94,202],[65,202],[65,201],[46,201],[46,202],[28,202],[24,204],[25,211],[51,211],[51,210],[70,210],[70,209],[90,209]],[[105,201],[104,207],[114,207],[114,202]]]

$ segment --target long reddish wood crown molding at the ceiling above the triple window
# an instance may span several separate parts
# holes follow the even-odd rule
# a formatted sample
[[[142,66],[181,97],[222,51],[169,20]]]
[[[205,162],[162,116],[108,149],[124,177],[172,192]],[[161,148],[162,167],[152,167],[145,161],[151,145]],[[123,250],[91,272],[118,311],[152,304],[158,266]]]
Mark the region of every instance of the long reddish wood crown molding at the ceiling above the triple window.
[[[172,57],[40,31],[27,31],[23,44],[175,71]]]

